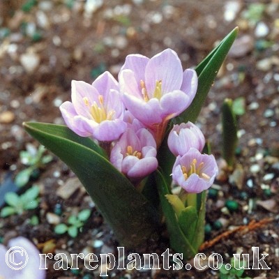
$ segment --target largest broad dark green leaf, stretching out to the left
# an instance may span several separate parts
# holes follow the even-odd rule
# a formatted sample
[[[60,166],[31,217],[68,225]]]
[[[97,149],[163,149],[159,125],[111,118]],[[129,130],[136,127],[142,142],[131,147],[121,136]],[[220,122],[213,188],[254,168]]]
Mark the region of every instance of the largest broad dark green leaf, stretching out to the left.
[[[65,126],[24,123],[24,128],[75,172],[121,244],[136,247],[156,231],[156,209],[93,141]]]

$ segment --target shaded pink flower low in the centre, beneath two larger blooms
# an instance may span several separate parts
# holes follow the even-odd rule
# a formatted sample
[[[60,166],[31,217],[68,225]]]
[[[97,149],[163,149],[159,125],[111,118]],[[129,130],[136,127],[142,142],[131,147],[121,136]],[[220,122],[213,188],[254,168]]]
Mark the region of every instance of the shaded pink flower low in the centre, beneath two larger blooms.
[[[132,181],[140,181],[158,167],[156,142],[145,128],[137,133],[128,128],[114,147],[110,161]]]

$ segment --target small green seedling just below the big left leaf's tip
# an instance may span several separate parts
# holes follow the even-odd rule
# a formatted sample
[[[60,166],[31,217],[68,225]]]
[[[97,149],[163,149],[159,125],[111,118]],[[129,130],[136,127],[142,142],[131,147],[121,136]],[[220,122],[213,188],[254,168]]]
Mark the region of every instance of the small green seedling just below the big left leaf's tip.
[[[38,174],[39,169],[43,168],[45,164],[50,163],[53,159],[51,155],[43,156],[45,148],[40,145],[36,149],[32,144],[27,144],[26,151],[20,151],[20,160],[23,165],[27,165],[27,169],[20,171],[17,176],[15,176],[15,184],[18,187],[26,185],[31,176]]]

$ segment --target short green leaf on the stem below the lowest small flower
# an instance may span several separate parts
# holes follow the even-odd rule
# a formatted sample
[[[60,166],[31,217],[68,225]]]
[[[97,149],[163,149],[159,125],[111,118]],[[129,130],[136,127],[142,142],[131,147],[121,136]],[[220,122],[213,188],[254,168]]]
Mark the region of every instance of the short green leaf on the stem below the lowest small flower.
[[[193,243],[196,225],[197,225],[197,209],[194,206],[187,206],[183,209],[179,216],[179,225],[190,243]]]

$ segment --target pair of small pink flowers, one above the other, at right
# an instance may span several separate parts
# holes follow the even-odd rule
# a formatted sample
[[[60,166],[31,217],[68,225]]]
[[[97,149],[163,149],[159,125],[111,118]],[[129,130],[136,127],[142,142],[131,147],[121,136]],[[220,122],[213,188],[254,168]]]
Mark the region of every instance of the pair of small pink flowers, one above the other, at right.
[[[213,155],[202,154],[204,135],[193,123],[174,125],[167,140],[169,150],[176,156],[172,179],[188,193],[208,189],[218,173]]]

